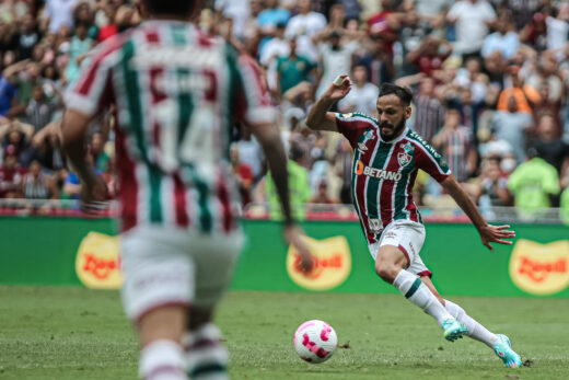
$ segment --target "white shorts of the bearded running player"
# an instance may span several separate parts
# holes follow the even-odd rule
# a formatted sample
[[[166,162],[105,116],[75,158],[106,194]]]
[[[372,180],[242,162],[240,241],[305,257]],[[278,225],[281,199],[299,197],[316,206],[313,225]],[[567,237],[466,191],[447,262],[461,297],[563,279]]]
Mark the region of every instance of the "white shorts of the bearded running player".
[[[370,254],[375,261],[378,251],[383,245],[398,247],[407,257],[407,270],[417,276],[432,276],[431,270],[425,266],[419,252],[425,243],[425,226],[410,220],[395,220],[383,230],[378,242],[369,244]]]

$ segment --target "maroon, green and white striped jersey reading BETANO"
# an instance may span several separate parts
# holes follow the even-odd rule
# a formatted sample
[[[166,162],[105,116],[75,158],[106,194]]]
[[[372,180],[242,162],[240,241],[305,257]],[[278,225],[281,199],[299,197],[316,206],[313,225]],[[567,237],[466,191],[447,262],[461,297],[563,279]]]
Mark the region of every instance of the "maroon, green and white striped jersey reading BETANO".
[[[422,222],[413,200],[417,170],[444,181],[451,171],[442,157],[409,128],[395,140],[383,141],[375,118],[336,114],[336,125],[355,152],[352,198],[368,242],[376,242],[394,220]]]

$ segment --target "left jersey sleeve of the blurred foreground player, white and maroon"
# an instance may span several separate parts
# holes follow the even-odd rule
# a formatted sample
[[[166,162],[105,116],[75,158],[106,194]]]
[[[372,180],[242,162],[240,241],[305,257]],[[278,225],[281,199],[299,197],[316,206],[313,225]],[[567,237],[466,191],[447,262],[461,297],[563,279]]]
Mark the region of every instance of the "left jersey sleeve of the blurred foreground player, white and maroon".
[[[111,69],[120,51],[120,41],[119,36],[115,36],[95,48],[91,61],[66,92],[65,102],[68,110],[93,116],[111,102]]]

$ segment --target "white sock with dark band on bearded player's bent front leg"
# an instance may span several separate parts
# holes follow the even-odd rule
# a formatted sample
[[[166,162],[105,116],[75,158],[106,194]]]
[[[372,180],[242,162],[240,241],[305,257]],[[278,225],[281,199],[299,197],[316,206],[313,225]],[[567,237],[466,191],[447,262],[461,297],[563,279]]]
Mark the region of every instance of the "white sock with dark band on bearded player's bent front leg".
[[[419,277],[410,272],[402,269],[393,285],[399,289],[400,293],[405,296],[411,303],[421,308],[427,314],[437,320],[437,323],[442,327],[444,320],[453,320],[454,318],[442,306],[434,295],[422,284]]]

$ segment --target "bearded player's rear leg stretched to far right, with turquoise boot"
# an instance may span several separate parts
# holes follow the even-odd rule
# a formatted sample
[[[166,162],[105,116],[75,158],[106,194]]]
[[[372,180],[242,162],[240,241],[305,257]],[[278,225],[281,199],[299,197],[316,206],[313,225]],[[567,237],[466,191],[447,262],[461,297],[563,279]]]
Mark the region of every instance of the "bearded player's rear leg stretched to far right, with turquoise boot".
[[[468,332],[465,335],[472,337],[473,339],[479,341],[486,344],[488,347],[492,348],[496,355],[502,359],[502,361],[508,367],[520,367],[522,365],[522,359],[520,355],[518,355],[512,348],[511,343],[508,336],[502,334],[495,334],[481,325],[474,318],[468,315],[463,308],[458,304],[443,299],[439,291],[437,291],[432,280],[428,276],[421,276],[421,281],[437,296],[439,301],[444,304],[446,310],[456,319],[458,322],[464,324]]]

